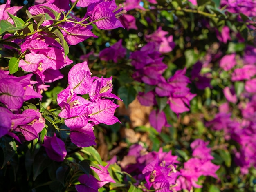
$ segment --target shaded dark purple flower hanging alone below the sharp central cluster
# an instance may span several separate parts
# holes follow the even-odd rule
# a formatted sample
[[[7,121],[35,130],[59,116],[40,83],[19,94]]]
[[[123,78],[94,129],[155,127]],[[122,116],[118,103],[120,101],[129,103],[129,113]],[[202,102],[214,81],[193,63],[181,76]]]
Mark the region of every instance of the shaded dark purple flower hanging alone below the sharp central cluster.
[[[45,147],[45,151],[50,159],[54,161],[63,161],[67,155],[65,143],[54,133],[53,137],[45,136],[44,143],[42,146]]]

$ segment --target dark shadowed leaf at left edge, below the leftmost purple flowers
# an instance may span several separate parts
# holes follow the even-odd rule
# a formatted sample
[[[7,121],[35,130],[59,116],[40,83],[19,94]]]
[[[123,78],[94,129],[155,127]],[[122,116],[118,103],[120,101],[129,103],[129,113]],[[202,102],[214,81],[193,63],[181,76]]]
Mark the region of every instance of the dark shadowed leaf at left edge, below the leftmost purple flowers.
[[[12,138],[9,137],[2,137],[0,138],[0,147],[4,152],[4,159],[2,168],[4,165],[15,155],[16,152],[16,143],[13,141]]]

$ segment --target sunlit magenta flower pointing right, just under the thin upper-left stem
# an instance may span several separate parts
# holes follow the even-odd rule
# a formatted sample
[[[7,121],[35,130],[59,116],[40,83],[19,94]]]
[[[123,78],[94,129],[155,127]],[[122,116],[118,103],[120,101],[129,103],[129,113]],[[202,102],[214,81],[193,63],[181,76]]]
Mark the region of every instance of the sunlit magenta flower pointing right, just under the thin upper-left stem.
[[[90,37],[97,38],[98,36],[94,35],[91,30],[92,26],[90,25],[68,27],[66,29],[67,33],[63,31],[63,35],[69,45],[76,45]]]

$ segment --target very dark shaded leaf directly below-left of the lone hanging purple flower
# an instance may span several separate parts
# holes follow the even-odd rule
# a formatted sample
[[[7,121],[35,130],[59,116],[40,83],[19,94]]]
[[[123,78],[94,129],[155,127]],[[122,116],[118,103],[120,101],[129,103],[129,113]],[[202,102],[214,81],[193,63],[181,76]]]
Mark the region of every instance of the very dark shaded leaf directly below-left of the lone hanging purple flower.
[[[33,162],[33,181],[52,163],[46,153],[38,153]]]

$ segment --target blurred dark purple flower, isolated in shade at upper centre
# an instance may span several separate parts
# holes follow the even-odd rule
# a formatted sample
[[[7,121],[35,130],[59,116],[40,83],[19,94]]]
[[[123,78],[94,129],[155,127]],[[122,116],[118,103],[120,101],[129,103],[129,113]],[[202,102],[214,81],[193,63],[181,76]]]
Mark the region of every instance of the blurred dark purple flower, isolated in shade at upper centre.
[[[115,63],[119,59],[124,58],[126,55],[126,49],[122,46],[122,39],[117,41],[110,47],[107,47],[99,52],[99,58],[103,61],[113,60]]]

